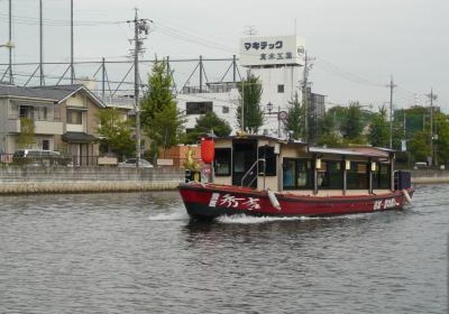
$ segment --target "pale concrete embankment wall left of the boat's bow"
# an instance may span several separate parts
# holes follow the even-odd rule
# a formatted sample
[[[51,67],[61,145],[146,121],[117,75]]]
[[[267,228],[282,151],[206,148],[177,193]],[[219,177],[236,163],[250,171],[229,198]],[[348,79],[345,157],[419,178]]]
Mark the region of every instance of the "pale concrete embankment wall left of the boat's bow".
[[[171,168],[3,167],[1,194],[95,193],[169,190],[184,180]]]

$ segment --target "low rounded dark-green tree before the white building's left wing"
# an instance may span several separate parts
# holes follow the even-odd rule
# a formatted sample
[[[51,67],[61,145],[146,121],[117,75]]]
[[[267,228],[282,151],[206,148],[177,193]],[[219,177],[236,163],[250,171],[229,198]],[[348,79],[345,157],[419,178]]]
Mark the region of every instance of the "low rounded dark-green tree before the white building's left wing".
[[[215,112],[210,111],[196,119],[195,128],[187,134],[187,143],[193,144],[205,133],[213,133],[218,137],[226,137],[231,134],[231,126],[224,119],[220,119]]]

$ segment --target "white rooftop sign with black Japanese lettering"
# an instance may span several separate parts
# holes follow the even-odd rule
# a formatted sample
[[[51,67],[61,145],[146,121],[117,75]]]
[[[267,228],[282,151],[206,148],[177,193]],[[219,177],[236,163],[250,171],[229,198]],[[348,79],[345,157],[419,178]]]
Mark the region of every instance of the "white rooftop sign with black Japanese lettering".
[[[304,40],[296,36],[245,37],[240,40],[242,66],[302,66],[304,54]]]

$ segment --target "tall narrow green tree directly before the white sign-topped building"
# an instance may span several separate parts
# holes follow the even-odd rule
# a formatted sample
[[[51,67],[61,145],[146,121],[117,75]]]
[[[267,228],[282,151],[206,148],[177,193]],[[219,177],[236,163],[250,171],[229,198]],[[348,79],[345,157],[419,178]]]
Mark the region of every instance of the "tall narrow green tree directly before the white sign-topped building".
[[[258,77],[249,74],[247,79],[238,84],[240,93],[240,104],[237,108],[237,121],[240,130],[246,133],[256,134],[263,124],[263,111],[260,107],[260,97],[262,96],[262,85]],[[244,125],[242,126],[242,104]]]

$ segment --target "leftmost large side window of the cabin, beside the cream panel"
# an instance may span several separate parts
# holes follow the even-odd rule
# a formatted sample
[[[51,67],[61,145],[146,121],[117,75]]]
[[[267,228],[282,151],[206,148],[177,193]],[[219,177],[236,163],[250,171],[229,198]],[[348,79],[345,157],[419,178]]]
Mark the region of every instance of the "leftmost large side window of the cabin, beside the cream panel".
[[[313,184],[312,160],[285,158],[283,162],[284,190],[309,190]]]

